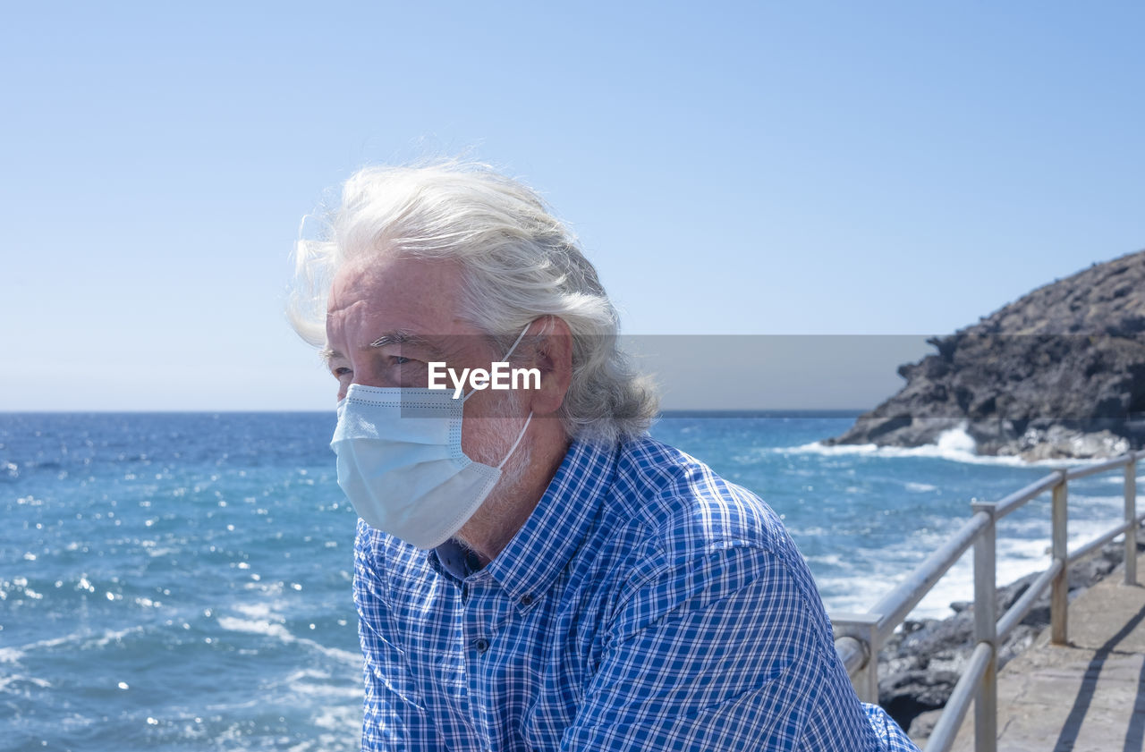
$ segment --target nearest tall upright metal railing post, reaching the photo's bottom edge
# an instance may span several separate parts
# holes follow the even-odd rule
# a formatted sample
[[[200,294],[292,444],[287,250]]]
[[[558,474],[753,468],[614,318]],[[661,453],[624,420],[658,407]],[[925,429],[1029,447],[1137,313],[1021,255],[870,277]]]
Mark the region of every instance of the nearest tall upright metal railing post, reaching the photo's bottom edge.
[[[974,751],[997,750],[997,576],[995,504],[974,501],[974,514],[985,512],[990,523],[974,541],[974,642],[990,646],[990,659],[974,696]]]

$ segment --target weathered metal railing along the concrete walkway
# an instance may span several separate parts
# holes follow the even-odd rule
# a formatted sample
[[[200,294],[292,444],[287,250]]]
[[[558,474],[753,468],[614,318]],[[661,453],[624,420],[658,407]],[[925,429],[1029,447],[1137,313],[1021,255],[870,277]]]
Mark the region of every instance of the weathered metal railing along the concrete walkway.
[[[958,683],[934,725],[926,752],[946,752],[962,726],[970,702],[974,700],[974,750],[995,752],[997,747],[997,647],[1029,614],[1034,602],[1050,588],[1050,640],[1066,643],[1069,564],[1095,553],[1106,543],[1126,533],[1124,581],[1137,584],[1136,529],[1145,520],[1137,514],[1137,460],[1145,450],[1129,452],[1111,460],[1069,469],[1057,469],[1045,477],[1014,491],[1001,501],[974,501],[973,515],[946,544],[926,557],[898,587],[866,614],[835,614],[835,649],[847,667],[859,698],[878,703],[878,652],[884,641],[907,615],[934,587],[962,554],[974,547],[974,650]],[[1067,498],[1069,481],[1124,468],[1124,520],[1089,543],[1069,552],[1067,537]],[[1030,499],[1052,492],[1052,533],[1049,569],[1035,579],[1010,609],[998,616],[996,607],[995,530],[997,521],[1024,506]]]

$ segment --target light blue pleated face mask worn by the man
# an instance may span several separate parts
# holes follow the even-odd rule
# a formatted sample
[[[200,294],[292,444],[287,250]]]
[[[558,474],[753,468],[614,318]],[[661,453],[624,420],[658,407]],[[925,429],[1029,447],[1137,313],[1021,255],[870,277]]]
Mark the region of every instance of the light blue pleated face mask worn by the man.
[[[429,549],[449,540],[477,510],[532,413],[505,459],[492,467],[461,450],[464,402],[443,389],[350,385],[338,404],[330,446],[338,454],[338,485],[366,524]]]

